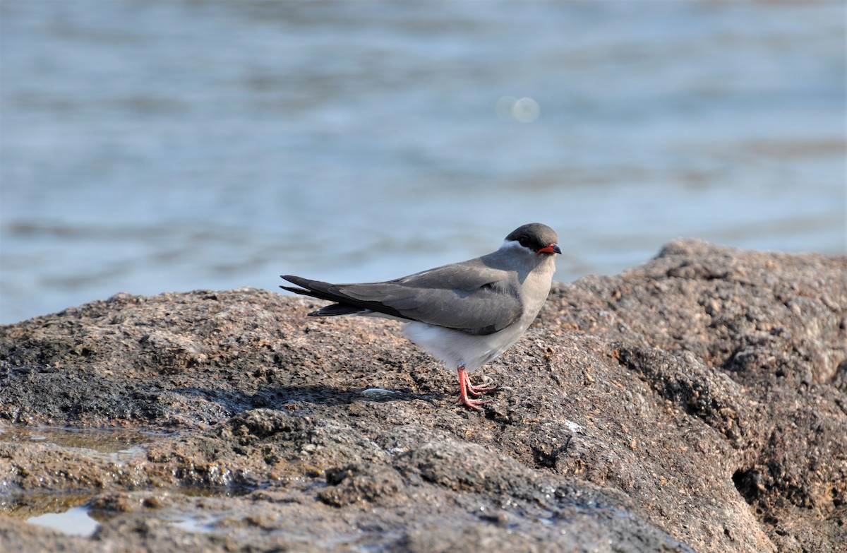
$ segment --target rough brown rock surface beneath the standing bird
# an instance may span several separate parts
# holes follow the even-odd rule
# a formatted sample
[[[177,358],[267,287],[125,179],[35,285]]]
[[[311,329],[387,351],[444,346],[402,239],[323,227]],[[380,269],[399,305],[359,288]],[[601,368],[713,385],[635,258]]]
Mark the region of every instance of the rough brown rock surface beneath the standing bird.
[[[396,321],[314,304],[121,293],[0,327],[0,550],[847,543],[844,258],[684,241],[556,284],[483,414]],[[91,537],[24,522],[83,503]]]

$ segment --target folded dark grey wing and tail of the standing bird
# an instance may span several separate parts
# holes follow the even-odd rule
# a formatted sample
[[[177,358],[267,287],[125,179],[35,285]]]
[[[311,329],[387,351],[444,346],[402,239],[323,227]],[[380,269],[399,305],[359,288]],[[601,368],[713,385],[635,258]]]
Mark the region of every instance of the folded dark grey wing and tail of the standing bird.
[[[337,302],[314,315],[371,310],[469,334],[491,334],[517,321],[522,312],[516,275],[471,262],[388,282],[329,284],[290,275],[283,278],[306,289],[282,288]]]

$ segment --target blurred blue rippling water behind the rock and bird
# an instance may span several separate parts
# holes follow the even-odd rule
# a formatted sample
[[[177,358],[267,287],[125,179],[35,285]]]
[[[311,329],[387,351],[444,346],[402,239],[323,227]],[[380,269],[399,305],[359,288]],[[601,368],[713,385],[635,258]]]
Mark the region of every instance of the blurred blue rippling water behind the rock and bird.
[[[843,3],[0,9],[0,322],[398,277],[530,221],[564,281],[674,237],[847,249]]]

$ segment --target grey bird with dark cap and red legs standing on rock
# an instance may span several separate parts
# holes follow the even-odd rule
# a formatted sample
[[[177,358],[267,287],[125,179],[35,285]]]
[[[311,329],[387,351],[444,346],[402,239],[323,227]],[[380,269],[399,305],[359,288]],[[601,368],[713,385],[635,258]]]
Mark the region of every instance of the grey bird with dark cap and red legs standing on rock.
[[[332,284],[280,275],[280,288],[326,299],[309,316],[379,316],[404,322],[403,333],[459,380],[457,405],[475,411],[490,403],[479,398],[496,389],[471,383],[469,375],[512,347],[535,320],[550,293],[556,254],[562,254],[551,227],[518,226],[499,249],[472,260],[441,265],[385,282]]]

